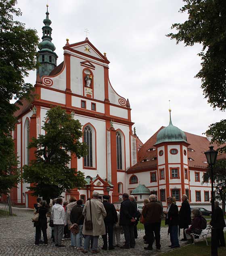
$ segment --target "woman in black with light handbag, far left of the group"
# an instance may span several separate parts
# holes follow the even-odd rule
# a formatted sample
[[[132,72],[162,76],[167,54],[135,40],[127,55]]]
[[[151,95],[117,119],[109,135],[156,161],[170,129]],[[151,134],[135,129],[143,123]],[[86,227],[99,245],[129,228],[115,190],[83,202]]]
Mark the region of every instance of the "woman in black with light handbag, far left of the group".
[[[46,214],[48,212],[48,208],[46,207],[46,201],[42,201],[40,203],[40,206],[38,207],[37,213],[39,214],[38,221],[34,222],[34,226],[36,227],[36,239],[35,239],[35,245],[39,245],[39,239],[41,235],[41,230],[44,238],[44,244],[48,245],[48,239],[47,239],[47,217]]]

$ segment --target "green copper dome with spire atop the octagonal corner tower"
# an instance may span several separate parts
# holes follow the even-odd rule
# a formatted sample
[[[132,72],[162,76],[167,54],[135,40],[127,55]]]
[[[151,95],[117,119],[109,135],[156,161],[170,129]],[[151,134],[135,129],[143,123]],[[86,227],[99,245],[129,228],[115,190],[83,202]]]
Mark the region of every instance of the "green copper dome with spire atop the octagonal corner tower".
[[[161,129],[157,134],[157,141],[155,145],[162,142],[187,142],[185,133],[178,127],[172,124],[171,110],[170,110],[170,123],[167,127]]]

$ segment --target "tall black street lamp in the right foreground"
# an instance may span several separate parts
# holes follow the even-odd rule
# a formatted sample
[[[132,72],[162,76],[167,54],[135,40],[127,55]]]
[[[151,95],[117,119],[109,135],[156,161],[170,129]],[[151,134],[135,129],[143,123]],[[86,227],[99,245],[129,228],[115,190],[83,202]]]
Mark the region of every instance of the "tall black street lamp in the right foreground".
[[[214,193],[213,193],[213,165],[215,165],[218,151],[213,149],[213,146],[209,147],[209,150],[204,152],[207,162],[209,164],[210,170],[211,170],[211,209],[212,209],[212,216],[211,216],[211,223],[212,223],[212,229],[211,229],[211,256],[218,256],[218,247],[217,247],[217,233],[215,228],[215,222],[214,222]]]

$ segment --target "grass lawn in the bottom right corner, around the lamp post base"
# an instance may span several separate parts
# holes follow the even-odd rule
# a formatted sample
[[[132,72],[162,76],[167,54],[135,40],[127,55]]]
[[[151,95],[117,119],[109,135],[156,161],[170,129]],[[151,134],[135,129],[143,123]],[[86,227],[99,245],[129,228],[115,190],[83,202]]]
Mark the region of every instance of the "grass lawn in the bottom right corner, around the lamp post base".
[[[224,238],[226,239],[226,233],[224,233]],[[210,256],[211,255],[211,239],[208,238],[208,246],[205,241],[195,243],[195,245],[190,244],[184,246],[180,249],[175,249],[172,252],[167,252],[161,254],[161,256]],[[218,256],[226,256],[226,248],[218,248]]]

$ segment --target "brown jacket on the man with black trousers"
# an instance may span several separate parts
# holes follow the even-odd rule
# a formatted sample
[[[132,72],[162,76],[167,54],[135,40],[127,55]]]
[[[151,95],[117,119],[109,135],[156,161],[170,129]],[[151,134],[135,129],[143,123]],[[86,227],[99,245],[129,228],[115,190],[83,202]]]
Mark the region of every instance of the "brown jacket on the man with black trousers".
[[[160,203],[152,201],[144,205],[142,209],[142,216],[144,217],[144,224],[161,222],[162,207]]]

